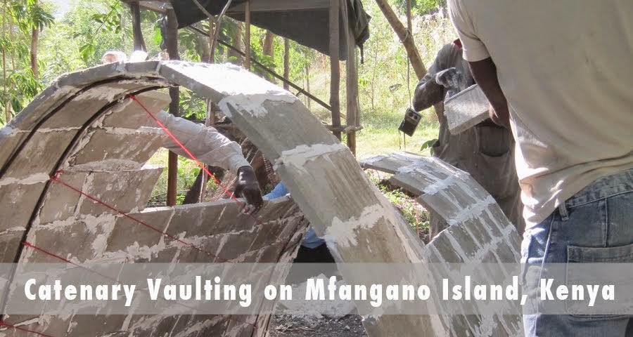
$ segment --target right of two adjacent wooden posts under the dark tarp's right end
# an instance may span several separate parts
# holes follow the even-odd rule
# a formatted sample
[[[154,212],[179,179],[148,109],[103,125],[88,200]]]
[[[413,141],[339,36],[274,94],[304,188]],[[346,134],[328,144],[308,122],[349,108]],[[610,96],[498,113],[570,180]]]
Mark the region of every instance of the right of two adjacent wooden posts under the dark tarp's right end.
[[[345,84],[345,94],[347,95],[347,126],[359,126],[360,109],[358,106],[358,69],[356,67],[356,39],[347,21],[347,14],[350,8],[347,7],[347,0],[343,6],[343,22],[345,22],[345,32],[347,33],[347,62],[345,62],[347,81]],[[347,133],[347,147],[356,156],[356,131]]]

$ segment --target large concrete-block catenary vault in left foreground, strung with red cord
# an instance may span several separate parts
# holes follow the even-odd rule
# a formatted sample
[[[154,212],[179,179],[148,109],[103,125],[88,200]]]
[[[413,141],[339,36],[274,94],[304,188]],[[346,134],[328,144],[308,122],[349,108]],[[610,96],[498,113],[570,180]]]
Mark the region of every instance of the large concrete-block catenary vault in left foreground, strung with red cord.
[[[217,218],[217,214],[239,217],[236,204],[224,201],[143,211],[151,187],[160,174],[160,169],[144,164],[165,136],[152,128],[143,128],[147,116],[132,108],[129,95],[146,100],[151,109],[160,109],[160,106],[152,106],[155,100],[151,92],[172,85],[184,86],[216,102],[274,163],[275,171],[301,210],[292,201],[281,200],[269,201],[262,213],[264,221],[276,226],[276,238],[285,240],[285,244],[276,239],[258,241],[255,228],[251,230],[254,236],[248,242],[252,249],[240,251],[226,246],[226,250],[219,252],[238,260],[288,261],[305,230],[303,213],[316,232],[326,238],[339,262],[418,263],[429,260],[423,244],[364,175],[352,154],[295,96],[232,65],[167,61],[114,63],[64,75],[0,131],[0,207],[4,208],[5,215],[0,225],[0,241],[4,246],[1,262],[51,262],[50,256],[37,255],[32,249],[25,248],[23,242],[47,243],[47,249],[77,262],[99,261],[113,256],[144,261],[143,254],[138,252],[142,252],[144,246],[151,251],[151,247],[158,245],[155,242],[160,242],[160,233],[152,235],[135,232],[130,229],[134,228],[132,226],[119,226],[126,219],[104,211],[81,194],[63,192],[63,187],[49,178],[60,171],[60,178],[68,185],[98,194],[99,198],[125,213],[171,219],[160,224],[167,230],[195,232],[195,229],[179,227],[186,223],[182,219],[195,223],[200,218],[214,218],[214,215]],[[108,189],[103,188],[106,186]],[[182,221],[174,221],[174,218]],[[88,224],[87,219],[92,222]],[[218,223],[222,223],[222,219]],[[238,218],[234,223],[248,228],[257,225],[246,218]],[[90,226],[93,230],[84,230],[84,244],[71,247],[58,244],[72,237],[70,233],[76,236],[82,228]],[[117,232],[121,228],[131,232]],[[209,246],[217,246],[214,235],[198,234],[208,237]],[[230,236],[231,230],[218,228],[215,234]],[[116,237],[128,241],[119,241]],[[256,242],[259,242],[257,246]],[[208,259],[199,253],[179,255],[182,253],[179,249],[165,242],[162,244],[165,251],[162,255],[156,254],[159,260],[158,256],[169,260],[177,255],[184,259],[181,261]],[[130,249],[132,246],[134,249]],[[177,262],[175,259],[170,261]],[[362,281],[344,271],[343,277],[350,283]],[[28,329],[51,336],[58,336],[52,334],[55,331],[64,331],[59,336],[88,336],[86,333],[90,330],[86,329],[94,328],[94,319],[103,320],[103,325],[109,328],[92,333],[103,336],[129,334],[129,331],[120,331],[122,317],[77,316],[70,318],[73,322],[62,321],[61,324],[51,324],[50,319],[34,321],[33,318],[4,317],[8,324],[23,323]],[[203,324],[203,329],[209,331],[207,333],[231,331],[231,336],[263,336],[268,324],[267,317],[252,318],[255,324],[207,318],[188,317],[187,324]],[[142,328],[142,333],[154,336],[160,332],[152,330],[158,329],[157,326],[175,324],[170,319],[173,318],[141,317],[134,322]],[[433,315],[387,315],[366,320],[364,324],[371,336],[407,336],[411,331],[423,336],[441,336],[451,330],[451,322],[451,319]],[[135,325],[130,324],[128,321],[127,328],[134,328]],[[74,328],[69,330],[68,326]],[[254,329],[255,326],[262,329]],[[136,332],[141,333],[141,330]],[[17,330],[13,332],[19,333]],[[516,331],[507,332],[513,335]]]

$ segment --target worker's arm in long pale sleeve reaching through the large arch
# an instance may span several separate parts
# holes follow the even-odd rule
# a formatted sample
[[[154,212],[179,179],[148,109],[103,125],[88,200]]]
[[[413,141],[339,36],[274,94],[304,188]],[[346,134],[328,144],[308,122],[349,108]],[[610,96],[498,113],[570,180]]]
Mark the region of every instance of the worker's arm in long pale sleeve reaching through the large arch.
[[[174,115],[167,114],[164,111],[156,114],[156,118],[200,162],[211,166],[219,166],[222,169],[236,173],[238,179],[234,191],[237,197],[246,199],[245,211],[247,213],[259,211],[264,203],[260,185],[257,183],[255,171],[243,157],[242,149],[238,143],[229,140],[229,138],[217,132],[215,128],[205,127],[180,117],[174,117]],[[163,147],[189,158],[189,155],[182,150],[180,145],[171,138]]]

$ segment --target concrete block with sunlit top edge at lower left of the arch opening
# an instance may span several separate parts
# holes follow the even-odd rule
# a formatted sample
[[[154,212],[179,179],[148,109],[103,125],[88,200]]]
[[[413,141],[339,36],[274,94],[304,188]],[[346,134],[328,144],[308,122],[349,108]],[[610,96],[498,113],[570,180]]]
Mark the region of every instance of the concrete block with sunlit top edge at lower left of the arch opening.
[[[160,231],[164,231],[165,227],[167,227],[167,221],[172,218],[173,213],[174,209],[170,207],[158,207],[146,209],[139,213],[131,213],[129,216]],[[110,237],[108,237],[108,248],[106,251],[125,251],[128,246],[135,242],[139,246],[151,247],[158,244],[162,236],[163,234],[160,232],[152,230],[131,218],[120,216],[115,222]]]

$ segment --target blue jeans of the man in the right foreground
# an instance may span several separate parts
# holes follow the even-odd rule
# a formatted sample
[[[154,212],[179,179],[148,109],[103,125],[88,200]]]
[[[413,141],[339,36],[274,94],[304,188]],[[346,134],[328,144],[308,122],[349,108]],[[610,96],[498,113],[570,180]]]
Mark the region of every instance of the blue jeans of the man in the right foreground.
[[[633,263],[633,170],[594,181],[526,230],[521,256],[527,291],[537,291],[541,263]],[[523,324],[526,337],[624,337],[630,317],[533,314]]]

